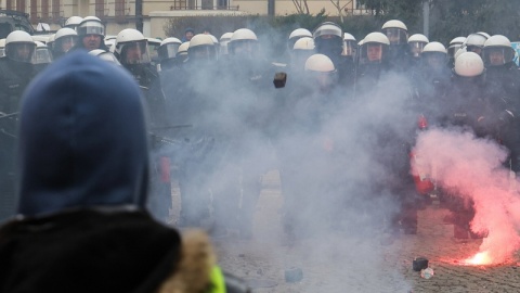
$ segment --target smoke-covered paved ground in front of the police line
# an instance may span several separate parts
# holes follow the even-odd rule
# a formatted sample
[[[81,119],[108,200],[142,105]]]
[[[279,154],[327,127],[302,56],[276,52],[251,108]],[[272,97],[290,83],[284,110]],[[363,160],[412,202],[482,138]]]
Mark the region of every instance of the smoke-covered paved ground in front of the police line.
[[[278,178],[277,171],[264,177],[252,239],[212,240],[220,265],[245,279],[252,292],[520,292],[520,257],[498,266],[461,265],[457,259],[477,253],[482,240],[455,241],[453,225],[442,221],[447,211],[435,205],[419,211],[417,234],[392,243],[379,234],[328,232],[288,244]],[[419,256],[429,259],[430,279],[413,270]],[[300,280],[294,281],[291,272]]]

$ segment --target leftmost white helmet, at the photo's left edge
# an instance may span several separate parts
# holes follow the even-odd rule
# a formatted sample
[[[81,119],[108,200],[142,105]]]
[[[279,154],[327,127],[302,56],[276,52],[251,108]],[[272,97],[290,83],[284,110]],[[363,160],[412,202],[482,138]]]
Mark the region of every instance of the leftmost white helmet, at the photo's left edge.
[[[24,63],[31,63],[36,43],[30,35],[23,30],[13,30],[5,38],[5,56]]]

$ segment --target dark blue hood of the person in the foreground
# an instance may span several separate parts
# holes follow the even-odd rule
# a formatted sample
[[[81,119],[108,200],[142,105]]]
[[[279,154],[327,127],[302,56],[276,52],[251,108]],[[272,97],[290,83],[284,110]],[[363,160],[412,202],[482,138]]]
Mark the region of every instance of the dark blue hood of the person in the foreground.
[[[27,88],[17,153],[18,214],[134,205],[148,177],[141,91],[123,69],[82,51]]]

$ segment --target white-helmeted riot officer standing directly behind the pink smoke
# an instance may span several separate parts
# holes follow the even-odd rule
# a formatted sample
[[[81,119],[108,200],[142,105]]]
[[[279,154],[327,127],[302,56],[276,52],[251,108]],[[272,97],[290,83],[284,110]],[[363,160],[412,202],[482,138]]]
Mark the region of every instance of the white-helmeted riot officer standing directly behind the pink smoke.
[[[472,129],[479,138],[503,143],[511,153],[507,167],[518,171],[519,135],[516,130],[515,110],[503,97],[491,97],[484,89],[484,62],[474,52],[464,52],[455,60],[447,111],[441,123],[445,126],[464,126]],[[473,233],[469,224],[474,216],[473,202],[453,196],[450,208],[454,212],[454,237],[456,239],[482,238]]]

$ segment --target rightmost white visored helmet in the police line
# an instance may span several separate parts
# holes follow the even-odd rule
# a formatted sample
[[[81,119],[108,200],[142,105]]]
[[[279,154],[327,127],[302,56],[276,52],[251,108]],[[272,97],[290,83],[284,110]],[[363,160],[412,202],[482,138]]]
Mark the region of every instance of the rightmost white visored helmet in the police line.
[[[494,35],[485,41],[482,59],[486,66],[504,65],[512,62],[514,58],[515,50],[507,37]]]

